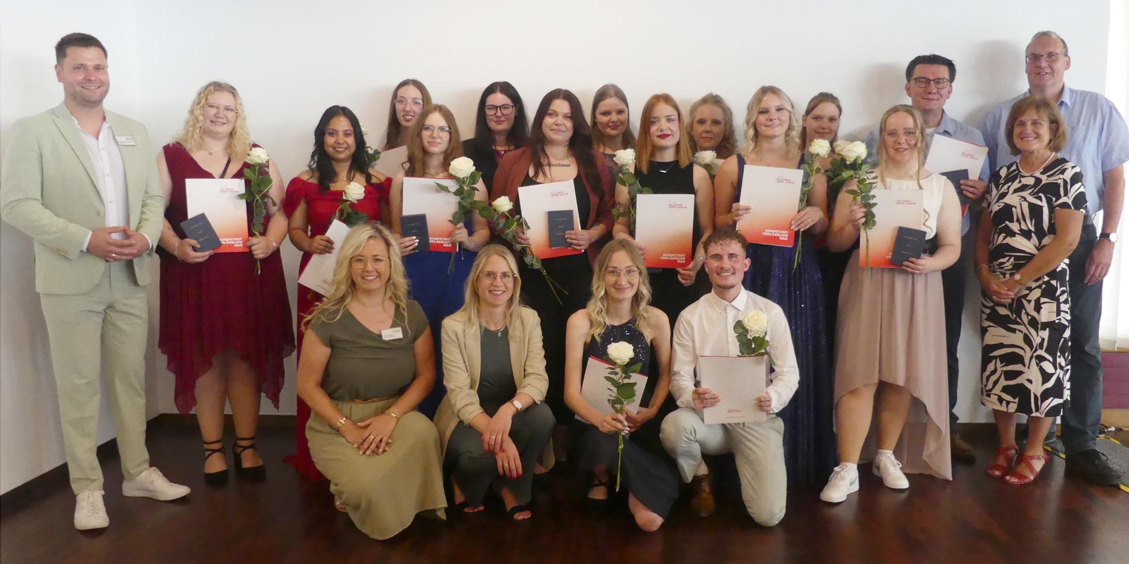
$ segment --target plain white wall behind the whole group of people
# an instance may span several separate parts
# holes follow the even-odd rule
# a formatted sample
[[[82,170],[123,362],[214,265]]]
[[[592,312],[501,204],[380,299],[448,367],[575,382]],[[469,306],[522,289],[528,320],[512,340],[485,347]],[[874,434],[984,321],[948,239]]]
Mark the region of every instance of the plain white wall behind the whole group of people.
[[[104,2],[97,10],[117,16],[90,19],[88,5],[79,2],[0,0],[0,135],[8,134],[17,117],[58,103],[51,46],[62,34],[82,29],[98,35],[111,51],[114,87],[107,107],[143,121],[154,139],[167,140],[200,86],[213,79],[230,81],[243,94],[252,135],[274,156],[286,178],[305,166],[314,125],[330,105],[350,106],[383,140],[391,89],[406,77],[421,79],[436,102],[450,106],[464,132],[473,131],[478,96],[493,80],[513,82],[531,114],[552,88],[572,89],[587,106],[601,85],[615,81],[636,112],[654,92],[668,91],[685,108],[716,91],[741,114],[738,121],[753,90],[773,83],[798,105],[820,90],[835,92],[846,108],[842,136],[860,139],[886,107],[904,102],[904,65],[928,52],[956,61],[947,109],[975,123],[991,104],[1026,87],[1023,47],[1032,33],[1048,27],[1070,42],[1069,83],[1104,90],[1110,3],[1076,5],[1065,18],[1054,16],[1062,6],[1058,0],[1032,0],[1022,8],[982,0],[928,6],[903,0],[803,6],[718,0],[700,17],[691,17],[698,5],[668,0],[434,0],[426,8],[217,0],[174,7],[126,0]],[[0,146],[5,139],[0,136]],[[45,376],[46,336],[26,267],[29,244],[9,226],[3,229],[0,490],[6,491],[35,468],[61,461],[54,456],[10,470],[9,465],[17,464],[10,462],[10,452],[44,443],[56,455],[61,451],[53,390]],[[283,259],[292,301],[298,253],[287,245]],[[960,413],[964,421],[988,421],[975,400],[974,303],[969,300],[962,341]],[[174,412],[172,376],[151,345],[150,361],[160,411]],[[287,370],[280,412],[294,413],[292,358]],[[274,409],[264,402],[263,412]],[[25,439],[19,428],[24,424],[43,435]]]

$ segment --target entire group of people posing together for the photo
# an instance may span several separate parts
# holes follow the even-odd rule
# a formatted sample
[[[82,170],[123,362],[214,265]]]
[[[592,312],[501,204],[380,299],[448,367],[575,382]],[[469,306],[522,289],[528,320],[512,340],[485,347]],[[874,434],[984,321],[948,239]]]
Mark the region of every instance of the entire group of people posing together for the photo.
[[[922,193],[926,250],[898,268],[859,265],[867,210],[852,195],[854,178],[811,177],[791,228],[814,244],[798,256],[794,247],[749,244],[734,229],[751,211],[739,203],[746,165],[826,170],[834,158],[807,148],[838,140],[839,99],[820,92],[797,112],[772,86],[752,96],[738,144],[733,111],[714,94],[686,114],[669,95],[651,96],[637,139],[614,85],[597,90],[590,122],[566,89],[546,94],[530,121],[509,82],[483,90],[474,135],[463,139],[452,112],[421,82],[404,80],[380,146],[406,147],[394,175],[374,168],[376,151],[356,114],[332,106],[314,129],[307,168],[289,184],[273,161],[251,173],[269,176],[271,187],[262,215],[246,205],[248,224],[263,226],[245,241],[248,252],[200,252],[181,228],[187,180],[257,170],[247,159],[261,148],[238,91],[224,82],[201,88],[183,130],[154,161],[145,127],[103,108],[102,43],[70,34],[55,55],[64,100],[14,126],[0,212],[35,240],[79,529],[108,525],[94,437],[103,365],[123,493],[189,493],[149,466],[143,441],[139,344],[152,253],[158,344],[176,378],[177,408],[196,409],[204,481],[228,479],[228,402],[235,473],[265,477],[255,449],[259,398],[278,406],[282,360],[297,351],[298,448],[287,460],[310,479],[327,477],[336,508],[378,539],[417,514],[444,517],[448,501],[458,513],[482,511],[491,492],[514,520],[530,519],[534,476],[566,460],[589,504],[606,506],[624,490],[647,531],[667,518],[680,484],[690,484],[694,512],[712,513],[711,474],[729,464],[763,526],[784,517],[789,487],[823,485],[822,500],[846,500],[864,461],[893,490],[909,487],[905,473],[951,479],[952,460],[974,461],[953,426],[972,268],[961,245],[974,226],[981,402],[999,430],[987,474],[1035,479],[1047,464],[1044,437],[1053,438],[1062,416],[1068,465],[1095,483],[1117,482],[1094,448],[1097,324],[1129,132],[1108,99],[1065,86],[1069,52],[1052,32],[1026,47],[1029,91],[994,107],[980,127],[944,111],[953,61],[929,54],[908,64],[910,104],[886,111],[866,141],[875,190]],[[937,134],[987,144],[981,175],[953,186],[925,170]],[[630,219],[613,213],[631,204],[629,187],[616,183],[614,153],[623,149],[634,150],[641,186],[694,196],[694,252],[684,267],[648,268]],[[482,173],[475,197],[506,196],[516,213],[519,187],[571,182],[579,229],[566,240],[577,253],[543,259],[542,272],[522,257],[526,233],[515,245],[476,212],[450,237],[454,261],[402,236],[404,178],[452,179],[462,156]],[[973,204],[962,206],[959,193]],[[326,235],[334,219],[358,213],[342,240]],[[296,289],[297,327],[277,253],[286,238],[303,252],[299,268],[336,253],[324,296]],[[752,314],[765,320],[772,359],[756,398],[768,416],[707,424],[703,409],[721,398],[702,387],[699,356],[741,354],[733,327]],[[581,387],[588,363],[620,354],[612,345],[621,343],[647,378],[638,409],[609,414]],[[1025,442],[1016,439],[1019,414],[1029,421]]]

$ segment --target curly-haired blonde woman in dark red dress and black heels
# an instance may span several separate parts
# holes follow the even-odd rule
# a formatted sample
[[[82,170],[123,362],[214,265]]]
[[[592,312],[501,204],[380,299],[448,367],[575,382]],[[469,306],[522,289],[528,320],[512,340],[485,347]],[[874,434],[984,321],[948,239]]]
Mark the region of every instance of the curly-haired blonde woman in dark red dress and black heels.
[[[260,394],[279,406],[286,372],[282,359],[294,352],[290,299],[277,253],[286,238],[286,217],[266,203],[261,237],[244,244],[250,252],[198,253],[181,222],[187,219],[185,179],[243,178],[253,148],[243,104],[234,87],[209,82],[196,94],[184,130],[157,156],[165,193],[165,229],[160,235],[160,337],[176,376],[176,407],[196,408],[204,444],[204,481],[227,482],[224,456],[224,404],[235,418],[235,469],[248,478],[265,477],[255,449]],[[274,201],[282,179],[268,161]],[[247,224],[254,209],[248,202]],[[255,262],[261,271],[256,272]],[[213,457],[212,455],[220,455]]]

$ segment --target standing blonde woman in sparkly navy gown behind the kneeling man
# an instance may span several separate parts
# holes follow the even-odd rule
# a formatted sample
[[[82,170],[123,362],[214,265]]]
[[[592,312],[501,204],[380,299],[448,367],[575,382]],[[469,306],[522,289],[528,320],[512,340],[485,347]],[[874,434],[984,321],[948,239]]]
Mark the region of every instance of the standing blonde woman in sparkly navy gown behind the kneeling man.
[[[745,146],[721,164],[714,182],[718,229],[733,228],[752,209],[742,205],[745,165],[796,168],[804,149],[800,121],[791,100],[779,88],[763,86],[753,94],[745,116]],[[799,202],[797,202],[798,206]],[[823,280],[813,243],[828,229],[826,178],[816,175],[807,205],[791,219],[796,247],[749,245],[752,266],[745,288],[784,308],[799,361],[799,388],[780,412],[785,423],[785,464],[789,486],[822,484],[835,466],[833,424],[834,380],[828,349]],[[794,266],[795,265],[795,266]]]

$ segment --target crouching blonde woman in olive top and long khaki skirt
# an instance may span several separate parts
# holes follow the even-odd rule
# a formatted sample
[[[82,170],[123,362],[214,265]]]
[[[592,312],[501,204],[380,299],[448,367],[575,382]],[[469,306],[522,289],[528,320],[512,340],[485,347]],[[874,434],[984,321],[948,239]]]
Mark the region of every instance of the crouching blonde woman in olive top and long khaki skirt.
[[[443,519],[439,434],[415,406],[435,384],[427,318],[406,298],[400,250],[382,226],[342,241],[333,288],[310,314],[298,395],[317,469],[361,531],[386,539],[417,513]]]

